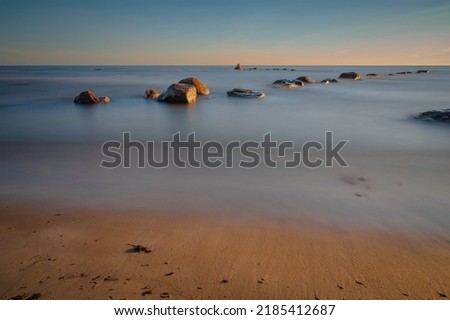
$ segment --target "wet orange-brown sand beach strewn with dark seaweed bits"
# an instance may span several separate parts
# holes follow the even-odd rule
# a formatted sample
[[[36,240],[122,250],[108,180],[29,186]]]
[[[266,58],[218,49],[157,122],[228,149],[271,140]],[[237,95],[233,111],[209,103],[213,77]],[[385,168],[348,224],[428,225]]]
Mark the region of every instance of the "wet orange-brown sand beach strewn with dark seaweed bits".
[[[293,217],[3,202],[0,256],[1,299],[450,296],[450,238]]]

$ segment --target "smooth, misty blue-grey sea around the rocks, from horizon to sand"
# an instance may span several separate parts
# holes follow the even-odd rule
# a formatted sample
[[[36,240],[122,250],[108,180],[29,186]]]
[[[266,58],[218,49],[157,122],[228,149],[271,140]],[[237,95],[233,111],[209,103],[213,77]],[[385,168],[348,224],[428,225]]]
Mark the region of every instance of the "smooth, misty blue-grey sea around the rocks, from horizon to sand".
[[[344,225],[450,232],[450,127],[412,115],[450,107],[450,68],[301,88],[277,79],[341,72],[391,73],[423,67],[299,67],[232,70],[189,67],[0,67],[0,201],[66,203],[90,208],[163,209],[300,217]],[[297,71],[289,71],[295,68]],[[146,100],[195,76],[211,95],[192,106]],[[235,87],[262,90],[262,100],[227,97]],[[79,106],[84,90],[108,105]],[[299,146],[324,132],[349,140],[349,168],[114,169],[99,167],[100,146],[129,131],[139,140],[176,133],[229,142],[260,141],[267,132]],[[366,181],[345,182],[345,177]],[[344,178],[344,179],[343,179]]]

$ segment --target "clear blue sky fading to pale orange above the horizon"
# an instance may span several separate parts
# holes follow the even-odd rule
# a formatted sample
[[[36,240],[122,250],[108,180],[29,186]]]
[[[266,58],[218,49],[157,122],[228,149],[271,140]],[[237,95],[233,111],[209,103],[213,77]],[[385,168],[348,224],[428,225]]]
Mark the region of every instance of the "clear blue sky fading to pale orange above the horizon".
[[[0,65],[450,65],[448,0],[0,0]]]

